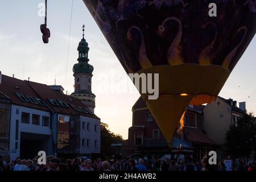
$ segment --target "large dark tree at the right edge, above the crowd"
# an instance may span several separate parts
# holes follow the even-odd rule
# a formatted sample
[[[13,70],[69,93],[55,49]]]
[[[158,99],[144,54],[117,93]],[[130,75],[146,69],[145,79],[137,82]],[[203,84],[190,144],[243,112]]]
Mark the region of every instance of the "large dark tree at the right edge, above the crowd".
[[[237,126],[230,126],[226,133],[226,147],[235,158],[249,156],[254,150],[256,119],[253,113],[245,113],[238,119]]]

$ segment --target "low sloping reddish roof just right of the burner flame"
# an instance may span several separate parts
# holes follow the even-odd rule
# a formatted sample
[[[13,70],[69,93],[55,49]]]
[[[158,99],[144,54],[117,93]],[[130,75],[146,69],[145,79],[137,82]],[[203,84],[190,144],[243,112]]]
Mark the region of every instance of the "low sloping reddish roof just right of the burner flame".
[[[216,143],[212,139],[210,139],[203,131],[199,129],[184,127],[183,132],[184,137],[191,142],[216,145]]]

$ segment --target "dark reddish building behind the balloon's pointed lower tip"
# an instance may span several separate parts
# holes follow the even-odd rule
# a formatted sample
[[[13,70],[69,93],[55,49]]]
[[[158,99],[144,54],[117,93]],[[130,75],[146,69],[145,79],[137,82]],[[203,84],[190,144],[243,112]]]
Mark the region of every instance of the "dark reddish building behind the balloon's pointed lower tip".
[[[125,141],[125,150],[122,149],[122,153],[129,156],[141,154],[149,159],[157,159],[163,155],[171,155],[172,158],[183,155],[200,160],[205,152],[216,147],[216,143],[203,131],[203,107],[188,106],[184,128],[181,133],[174,134],[170,148],[150,110],[140,97],[132,109],[133,123],[129,128],[129,137]]]

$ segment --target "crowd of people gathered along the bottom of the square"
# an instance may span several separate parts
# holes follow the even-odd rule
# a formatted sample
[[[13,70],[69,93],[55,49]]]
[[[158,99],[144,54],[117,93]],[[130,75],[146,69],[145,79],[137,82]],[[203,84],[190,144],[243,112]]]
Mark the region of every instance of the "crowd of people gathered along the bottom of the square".
[[[237,171],[256,171],[256,164],[246,164],[242,160],[235,161]],[[21,160],[16,158],[10,164],[0,156],[0,171],[226,171],[225,164],[218,162],[218,165],[209,165],[208,158],[196,162],[191,158],[187,160],[158,159],[126,159],[115,160],[101,158],[91,159],[59,159],[55,156],[47,156],[46,164],[38,164],[38,157],[35,159]]]

